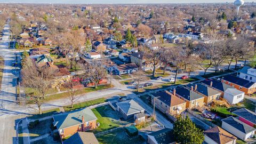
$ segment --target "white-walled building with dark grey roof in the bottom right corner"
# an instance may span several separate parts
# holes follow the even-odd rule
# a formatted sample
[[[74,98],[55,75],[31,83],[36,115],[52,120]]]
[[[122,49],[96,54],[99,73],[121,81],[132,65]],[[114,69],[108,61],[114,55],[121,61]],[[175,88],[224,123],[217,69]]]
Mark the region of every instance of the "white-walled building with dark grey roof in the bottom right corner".
[[[221,127],[223,129],[230,132],[231,134],[234,134],[237,138],[240,138],[242,140],[246,140],[248,138],[253,137],[254,132],[256,131],[256,129],[254,129],[252,126],[239,121],[235,117],[230,116],[225,119],[222,119],[221,121]]]

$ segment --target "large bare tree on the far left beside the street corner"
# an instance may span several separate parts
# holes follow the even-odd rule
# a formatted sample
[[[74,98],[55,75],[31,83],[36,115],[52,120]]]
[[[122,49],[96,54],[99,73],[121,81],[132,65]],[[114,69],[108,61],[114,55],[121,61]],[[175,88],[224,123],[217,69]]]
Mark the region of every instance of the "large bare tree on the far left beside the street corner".
[[[25,93],[29,96],[28,103],[33,103],[38,107],[39,114],[42,114],[41,106],[46,101],[46,92],[51,85],[55,71],[51,68],[36,67],[35,63],[27,61],[27,66],[21,70],[22,85],[33,89],[33,93]]]

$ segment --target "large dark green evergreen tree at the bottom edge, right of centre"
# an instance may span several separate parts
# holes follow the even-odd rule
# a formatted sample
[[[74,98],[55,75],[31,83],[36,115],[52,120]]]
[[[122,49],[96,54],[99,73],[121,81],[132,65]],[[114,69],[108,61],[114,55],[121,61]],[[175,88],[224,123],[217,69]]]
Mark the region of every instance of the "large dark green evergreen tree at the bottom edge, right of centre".
[[[179,117],[174,123],[173,134],[178,143],[201,144],[204,141],[203,132],[189,119]]]

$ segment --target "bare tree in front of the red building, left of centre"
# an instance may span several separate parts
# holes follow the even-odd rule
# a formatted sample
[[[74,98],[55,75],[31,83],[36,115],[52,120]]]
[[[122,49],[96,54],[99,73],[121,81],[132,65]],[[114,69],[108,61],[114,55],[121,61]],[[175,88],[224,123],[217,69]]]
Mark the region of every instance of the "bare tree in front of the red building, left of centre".
[[[90,78],[90,81],[94,83],[95,89],[100,80],[107,76],[107,70],[103,67],[102,61],[93,60],[91,63],[82,64],[82,68],[85,70],[85,77]]]

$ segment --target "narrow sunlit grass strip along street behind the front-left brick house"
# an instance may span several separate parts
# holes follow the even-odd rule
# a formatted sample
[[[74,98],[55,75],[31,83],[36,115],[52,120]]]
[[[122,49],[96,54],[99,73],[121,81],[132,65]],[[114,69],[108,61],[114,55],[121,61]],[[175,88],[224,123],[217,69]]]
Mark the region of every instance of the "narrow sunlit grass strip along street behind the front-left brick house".
[[[76,103],[76,104],[74,104],[73,108],[64,107],[64,110],[65,111],[71,111],[71,110],[75,110],[75,109],[79,109],[79,108],[84,108],[84,107],[89,107],[89,106],[92,106],[92,105],[97,105],[99,103],[104,103],[104,102],[106,102],[106,99],[105,98],[100,98],[100,99],[85,101],[85,102],[81,102],[81,103]]]

